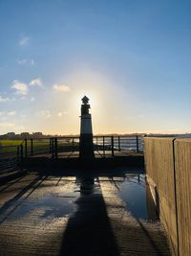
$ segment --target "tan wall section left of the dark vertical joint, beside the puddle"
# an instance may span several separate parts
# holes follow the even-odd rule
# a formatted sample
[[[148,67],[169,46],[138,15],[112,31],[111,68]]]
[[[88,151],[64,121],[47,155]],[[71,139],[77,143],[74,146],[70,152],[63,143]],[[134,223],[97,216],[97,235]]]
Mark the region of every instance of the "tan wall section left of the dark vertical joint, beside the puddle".
[[[146,174],[173,255],[178,255],[173,138],[145,138]]]

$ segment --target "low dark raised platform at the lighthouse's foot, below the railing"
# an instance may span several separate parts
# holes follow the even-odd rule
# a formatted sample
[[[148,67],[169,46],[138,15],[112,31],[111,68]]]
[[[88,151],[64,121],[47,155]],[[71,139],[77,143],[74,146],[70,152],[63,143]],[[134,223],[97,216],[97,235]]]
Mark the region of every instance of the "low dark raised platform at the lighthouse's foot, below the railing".
[[[23,167],[62,167],[62,166],[143,166],[144,156],[142,152],[136,151],[115,151],[112,155],[111,151],[95,151],[95,158],[80,159],[78,151],[59,152],[56,156],[51,153],[38,153],[23,158]]]

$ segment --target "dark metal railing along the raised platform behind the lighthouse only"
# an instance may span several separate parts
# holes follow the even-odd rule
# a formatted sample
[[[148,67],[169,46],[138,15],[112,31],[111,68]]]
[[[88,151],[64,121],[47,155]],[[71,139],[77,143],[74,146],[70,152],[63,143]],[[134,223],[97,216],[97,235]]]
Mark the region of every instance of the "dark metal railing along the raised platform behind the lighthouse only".
[[[143,151],[143,136],[93,136],[94,150],[102,156],[115,156],[116,151]],[[20,145],[19,159],[29,156],[50,156],[79,152],[79,137],[25,139]]]

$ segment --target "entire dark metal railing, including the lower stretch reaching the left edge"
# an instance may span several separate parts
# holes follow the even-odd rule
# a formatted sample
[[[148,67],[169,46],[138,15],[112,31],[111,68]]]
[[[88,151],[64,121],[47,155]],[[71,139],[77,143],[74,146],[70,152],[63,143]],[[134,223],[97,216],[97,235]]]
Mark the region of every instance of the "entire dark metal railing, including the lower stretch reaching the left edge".
[[[93,136],[95,154],[115,156],[117,151],[143,151],[143,136]],[[0,169],[16,166],[25,157],[59,158],[79,152],[79,136],[25,139],[18,146],[0,146]],[[68,154],[67,154],[68,153]]]

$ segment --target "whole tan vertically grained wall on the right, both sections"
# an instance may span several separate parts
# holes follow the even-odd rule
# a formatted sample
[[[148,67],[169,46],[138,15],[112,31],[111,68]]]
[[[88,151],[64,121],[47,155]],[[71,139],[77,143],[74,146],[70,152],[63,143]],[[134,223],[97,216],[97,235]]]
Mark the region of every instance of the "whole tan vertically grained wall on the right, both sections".
[[[191,139],[145,138],[147,180],[172,255],[191,255]]]

